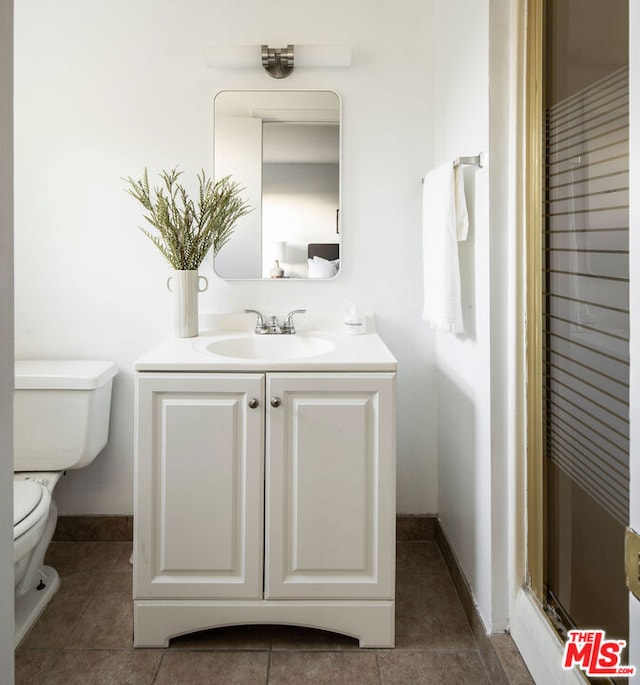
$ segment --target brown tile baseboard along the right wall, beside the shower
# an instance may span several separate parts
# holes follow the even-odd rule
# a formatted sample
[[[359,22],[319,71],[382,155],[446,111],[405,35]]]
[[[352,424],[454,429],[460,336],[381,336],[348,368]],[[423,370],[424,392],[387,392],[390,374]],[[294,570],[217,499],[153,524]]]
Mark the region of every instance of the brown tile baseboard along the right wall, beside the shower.
[[[440,525],[440,520],[435,523],[435,539],[440,549],[453,584],[456,587],[462,607],[471,626],[471,631],[478,646],[489,680],[492,685],[535,685],[529,670],[522,658],[515,642],[509,633],[487,634],[484,623],[480,618],[478,607],[474,601],[471,587],[458,563],[455,553]]]

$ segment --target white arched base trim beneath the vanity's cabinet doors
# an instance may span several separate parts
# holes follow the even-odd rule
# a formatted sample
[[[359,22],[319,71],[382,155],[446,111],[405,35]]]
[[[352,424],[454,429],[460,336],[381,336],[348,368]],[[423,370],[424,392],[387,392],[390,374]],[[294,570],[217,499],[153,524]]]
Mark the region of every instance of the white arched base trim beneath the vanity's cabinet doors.
[[[135,600],[134,647],[168,647],[172,637],[208,628],[274,623],[356,638],[360,647],[395,645],[393,601]]]

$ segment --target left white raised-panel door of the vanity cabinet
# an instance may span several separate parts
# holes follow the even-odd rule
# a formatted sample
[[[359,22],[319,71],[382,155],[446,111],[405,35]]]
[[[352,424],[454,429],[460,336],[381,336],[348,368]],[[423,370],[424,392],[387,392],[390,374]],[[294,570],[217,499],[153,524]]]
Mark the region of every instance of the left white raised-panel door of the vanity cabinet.
[[[261,597],[264,376],[142,373],[136,392],[134,597]]]

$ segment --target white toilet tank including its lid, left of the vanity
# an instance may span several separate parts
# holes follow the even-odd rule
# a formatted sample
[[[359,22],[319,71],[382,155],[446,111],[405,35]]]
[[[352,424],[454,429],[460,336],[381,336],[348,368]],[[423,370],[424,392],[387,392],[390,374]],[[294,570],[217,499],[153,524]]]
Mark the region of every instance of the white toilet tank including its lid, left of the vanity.
[[[14,471],[63,471],[91,463],[107,444],[116,365],[17,360]]]

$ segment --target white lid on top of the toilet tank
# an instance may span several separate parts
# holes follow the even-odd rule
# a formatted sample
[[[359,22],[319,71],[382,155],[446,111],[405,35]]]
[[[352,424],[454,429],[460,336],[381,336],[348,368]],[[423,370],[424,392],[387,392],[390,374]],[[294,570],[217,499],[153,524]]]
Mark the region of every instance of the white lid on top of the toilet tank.
[[[17,359],[15,389],[91,390],[111,380],[118,368],[113,362],[62,359]]]

